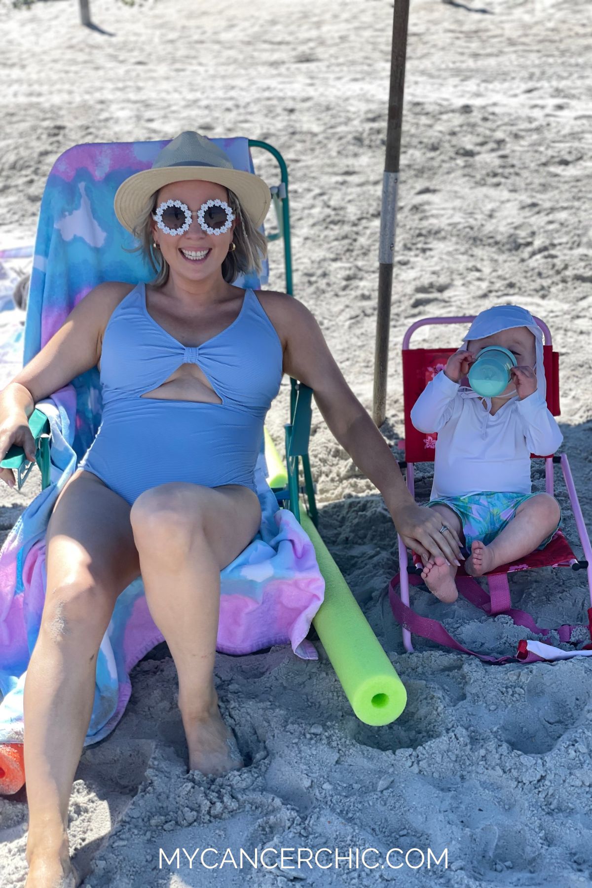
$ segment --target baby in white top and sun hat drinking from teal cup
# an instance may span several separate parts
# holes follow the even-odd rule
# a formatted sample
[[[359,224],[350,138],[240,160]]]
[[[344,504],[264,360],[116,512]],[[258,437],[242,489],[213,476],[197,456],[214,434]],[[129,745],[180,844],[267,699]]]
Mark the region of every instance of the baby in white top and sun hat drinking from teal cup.
[[[481,576],[542,549],[559,527],[556,499],[531,492],[530,454],[555,453],[563,435],[547,408],[542,334],[530,312],[489,308],[463,343],[417,399],[411,421],[420,432],[438,432],[428,504],[442,516],[441,533],[456,535],[470,551],[466,572]],[[509,385],[494,398],[462,385],[488,345],[501,345],[517,361]],[[454,601],[456,569],[430,558],[422,578],[438,599]]]

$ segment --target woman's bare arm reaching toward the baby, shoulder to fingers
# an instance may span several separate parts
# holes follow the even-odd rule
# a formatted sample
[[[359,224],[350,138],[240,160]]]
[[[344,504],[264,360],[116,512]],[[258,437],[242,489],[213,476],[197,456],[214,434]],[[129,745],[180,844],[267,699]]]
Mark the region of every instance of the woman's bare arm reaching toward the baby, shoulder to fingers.
[[[305,305],[290,297],[284,370],[309,385],[329,430],[372,481],[403,539],[419,555],[443,555],[458,563],[460,541],[439,533],[442,521],[414,502],[397,460],[372,417],[347,385],[320,330]]]

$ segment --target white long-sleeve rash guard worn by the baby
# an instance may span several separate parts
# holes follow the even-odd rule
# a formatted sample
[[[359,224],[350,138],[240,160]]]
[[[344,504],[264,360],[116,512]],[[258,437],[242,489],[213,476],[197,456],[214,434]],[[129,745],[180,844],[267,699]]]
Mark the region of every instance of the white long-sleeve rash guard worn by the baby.
[[[541,392],[514,397],[492,416],[459,387],[441,370],[411,411],[419,432],[438,432],[431,499],[531,493],[531,453],[550,456],[564,440]]]

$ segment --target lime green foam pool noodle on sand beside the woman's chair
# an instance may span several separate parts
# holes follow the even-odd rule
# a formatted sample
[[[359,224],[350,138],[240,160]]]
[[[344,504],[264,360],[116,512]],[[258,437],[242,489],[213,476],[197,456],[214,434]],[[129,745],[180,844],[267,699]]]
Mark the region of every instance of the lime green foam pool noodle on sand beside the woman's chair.
[[[300,518],[325,578],[325,599],[312,621],[314,628],[359,720],[390,725],[405,709],[405,686],[304,509]]]

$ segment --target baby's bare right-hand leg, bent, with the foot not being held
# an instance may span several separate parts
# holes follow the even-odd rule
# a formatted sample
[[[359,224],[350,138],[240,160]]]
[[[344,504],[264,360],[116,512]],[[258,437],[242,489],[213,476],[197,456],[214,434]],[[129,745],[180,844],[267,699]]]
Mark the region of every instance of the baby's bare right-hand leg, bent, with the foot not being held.
[[[554,496],[537,494],[521,503],[516,515],[488,546],[475,540],[465,570],[472,576],[483,576],[501,564],[509,564],[530,555],[549,534],[561,515]]]

